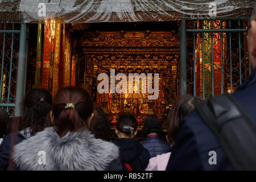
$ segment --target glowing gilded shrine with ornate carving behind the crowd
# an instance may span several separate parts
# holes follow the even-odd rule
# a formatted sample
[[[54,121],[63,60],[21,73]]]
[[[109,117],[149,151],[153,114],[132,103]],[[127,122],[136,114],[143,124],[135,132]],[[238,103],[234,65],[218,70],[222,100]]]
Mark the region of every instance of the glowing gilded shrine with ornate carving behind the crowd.
[[[108,113],[111,120],[122,114],[133,114],[137,119],[146,115],[163,119],[166,105],[179,94],[178,61],[176,31],[86,32],[77,43],[77,86],[92,93],[96,106]],[[111,93],[110,86],[108,93],[98,93],[97,76],[106,73],[110,77],[110,69],[115,69],[115,75],[124,73],[127,77],[129,73],[158,73],[158,98],[148,100],[148,90],[141,92],[142,80],[134,81],[134,93]],[[139,93],[135,93],[138,89]]]

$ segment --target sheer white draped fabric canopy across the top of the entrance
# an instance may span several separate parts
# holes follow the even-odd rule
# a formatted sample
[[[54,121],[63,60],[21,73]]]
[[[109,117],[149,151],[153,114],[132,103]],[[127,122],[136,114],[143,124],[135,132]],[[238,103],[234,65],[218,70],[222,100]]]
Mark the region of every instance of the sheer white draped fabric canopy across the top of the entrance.
[[[254,0],[0,0],[2,22],[146,22],[249,17]]]

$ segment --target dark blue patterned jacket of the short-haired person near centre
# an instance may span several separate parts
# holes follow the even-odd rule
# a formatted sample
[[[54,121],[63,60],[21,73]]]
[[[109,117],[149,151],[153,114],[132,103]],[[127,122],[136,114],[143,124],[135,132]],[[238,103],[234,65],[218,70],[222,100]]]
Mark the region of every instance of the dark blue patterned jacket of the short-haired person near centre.
[[[170,144],[159,137],[148,137],[146,140],[143,140],[141,144],[150,152],[150,158],[170,152],[171,149]]]

